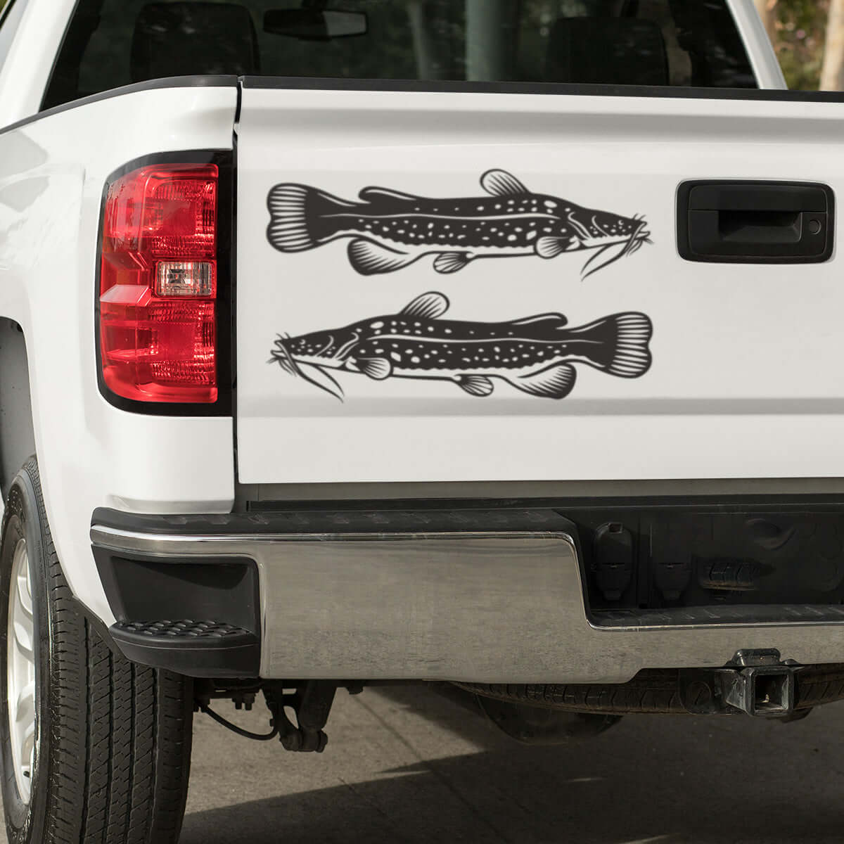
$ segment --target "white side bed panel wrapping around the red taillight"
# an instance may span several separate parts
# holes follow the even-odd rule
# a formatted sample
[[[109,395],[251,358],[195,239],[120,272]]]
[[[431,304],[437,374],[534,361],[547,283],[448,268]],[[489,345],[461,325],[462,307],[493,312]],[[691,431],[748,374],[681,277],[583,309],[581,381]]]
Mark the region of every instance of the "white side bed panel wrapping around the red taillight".
[[[103,186],[140,156],[230,149],[236,104],[233,87],[140,91],[0,132],[0,313],[27,342],[35,445],[62,567],[107,623],[89,539],[94,509],[229,512],[234,464],[230,418],[131,414],[100,394],[94,290]]]

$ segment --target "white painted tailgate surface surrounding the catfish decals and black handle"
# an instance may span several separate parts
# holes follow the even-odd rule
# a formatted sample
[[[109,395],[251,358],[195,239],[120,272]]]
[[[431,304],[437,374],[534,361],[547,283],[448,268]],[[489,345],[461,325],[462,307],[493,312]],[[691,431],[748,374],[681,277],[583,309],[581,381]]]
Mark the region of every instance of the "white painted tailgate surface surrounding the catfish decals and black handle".
[[[684,261],[675,196],[691,179],[817,181],[841,192],[842,120],[841,105],[741,98],[247,87],[237,127],[239,480],[841,476],[840,260]],[[436,273],[429,256],[363,276],[346,239],[295,254],[268,242],[278,183],[345,200],[367,186],[483,197],[490,168],[533,192],[644,214],[654,245],[582,281],[588,252],[479,259],[452,274]],[[581,366],[562,401],[497,380],[477,398],[448,381],[335,371],[340,402],[267,365],[279,333],[394,314],[430,290],[448,297],[454,320],[560,311],[581,326],[643,312],[652,368],[624,380]]]

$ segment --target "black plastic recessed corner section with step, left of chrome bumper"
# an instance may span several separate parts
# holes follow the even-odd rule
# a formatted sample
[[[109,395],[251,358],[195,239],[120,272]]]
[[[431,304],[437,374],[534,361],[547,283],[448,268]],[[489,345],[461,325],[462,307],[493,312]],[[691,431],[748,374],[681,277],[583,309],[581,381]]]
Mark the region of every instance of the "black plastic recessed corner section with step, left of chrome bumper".
[[[107,511],[97,512],[102,524]],[[109,633],[128,659],[191,677],[257,677],[261,627],[254,560],[197,562],[93,548],[117,619]]]

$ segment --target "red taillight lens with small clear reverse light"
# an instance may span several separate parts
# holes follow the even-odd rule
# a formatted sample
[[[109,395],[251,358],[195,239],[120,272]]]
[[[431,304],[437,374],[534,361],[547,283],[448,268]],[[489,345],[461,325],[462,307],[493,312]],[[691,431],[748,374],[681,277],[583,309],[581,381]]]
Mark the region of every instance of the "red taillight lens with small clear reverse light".
[[[100,355],[111,392],[217,400],[216,165],[156,165],[113,182],[100,268]]]

